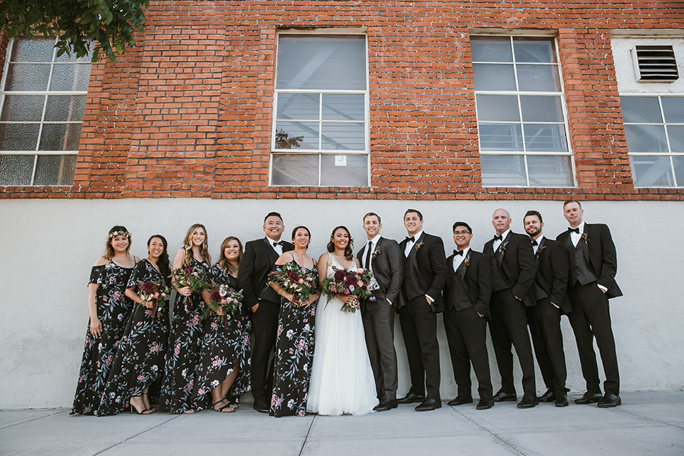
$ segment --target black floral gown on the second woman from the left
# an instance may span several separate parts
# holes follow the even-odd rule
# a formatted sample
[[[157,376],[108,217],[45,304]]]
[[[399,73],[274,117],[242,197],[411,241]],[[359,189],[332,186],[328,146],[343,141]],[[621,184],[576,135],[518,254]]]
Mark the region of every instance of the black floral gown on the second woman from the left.
[[[146,281],[170,284],[170,278],[162,276],[150,261],[143,259],[133,268],[126,288],[140,288],[140,282]],[[152,317],[151,309],[133,305],[133,315],[118,343],[105,384],[98,410],[100,416],[123,412],[131,396],[140,395],[147,386],[162,378],[169,337],[169,306],[157,309]]]

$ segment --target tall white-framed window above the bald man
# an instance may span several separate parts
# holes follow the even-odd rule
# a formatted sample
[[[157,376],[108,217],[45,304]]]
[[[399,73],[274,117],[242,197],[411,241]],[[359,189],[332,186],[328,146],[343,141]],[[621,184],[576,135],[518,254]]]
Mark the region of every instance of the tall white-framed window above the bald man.
[[[472,36],[482,185],[573,187],[552,38]]]

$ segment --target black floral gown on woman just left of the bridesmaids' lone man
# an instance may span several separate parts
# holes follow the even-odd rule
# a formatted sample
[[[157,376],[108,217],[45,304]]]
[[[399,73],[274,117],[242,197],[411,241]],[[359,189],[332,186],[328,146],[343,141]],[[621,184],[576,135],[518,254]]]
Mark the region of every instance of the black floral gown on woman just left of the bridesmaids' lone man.
[[[223,274],[220,264],[214,264],[209,271],[209,277],[216,284],[227,284],[232,289],[239,289],[237,279],[229,274]],[[227,316],[226,324],[224,324],[223,317],[217,316],[214,312],[210,312],[202,323],[204,324],[204,338],[202,338],[202,348],[199,352],[195,395],[198,398],[205,395],[208,400],[211,400],[209,393],[232,373],[233,367],[237,365],[241,368],[246,358],[249,362],[249,334],[245,331],[242,307],[237,309],[234,316]],[[249,388],[249,369],[247,369],[247,375],[244,375],[242,370],[238,375],[239,378],[236,378],[234,382],[236,388],[231,387],[229,390],[230,397],[244,393],[245,383]]]

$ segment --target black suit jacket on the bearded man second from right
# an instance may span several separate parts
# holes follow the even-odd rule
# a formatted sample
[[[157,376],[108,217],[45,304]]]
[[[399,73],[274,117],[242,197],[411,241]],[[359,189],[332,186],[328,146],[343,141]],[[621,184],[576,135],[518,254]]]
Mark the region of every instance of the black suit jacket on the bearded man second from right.
[[[537,275],[530,294],[534,301],[549,298],[556,304],[563,314],[571,311],[568,299],[568,253],[561,242],[545,237],[539,238],[537,254],[534,261],[537,264]]]

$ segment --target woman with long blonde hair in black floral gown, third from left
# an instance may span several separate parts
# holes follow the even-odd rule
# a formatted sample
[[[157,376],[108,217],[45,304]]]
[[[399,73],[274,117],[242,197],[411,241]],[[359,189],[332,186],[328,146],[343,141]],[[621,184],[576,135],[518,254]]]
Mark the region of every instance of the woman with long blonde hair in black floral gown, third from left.
[[[207,274],[211,264],[207,230],[196,223],[187,230],[182,249],[173,257],[173,269],[198,267]],[[211,405],[205,396],[192,394],[204,337],[204,326],[199,318],[204,304],[199,293],[194,293],[188,286],[176,288],[176,291],[159,405],[160,410],[169,413],[195,413]]]

